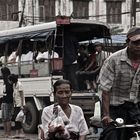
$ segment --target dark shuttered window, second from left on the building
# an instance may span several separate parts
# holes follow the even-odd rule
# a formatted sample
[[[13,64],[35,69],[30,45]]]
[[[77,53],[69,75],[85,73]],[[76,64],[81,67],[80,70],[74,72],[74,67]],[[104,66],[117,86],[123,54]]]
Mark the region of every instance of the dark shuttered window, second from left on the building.
[[[39,17],[41,22],[53,21],[55,18],[55,0],[39,1]]]

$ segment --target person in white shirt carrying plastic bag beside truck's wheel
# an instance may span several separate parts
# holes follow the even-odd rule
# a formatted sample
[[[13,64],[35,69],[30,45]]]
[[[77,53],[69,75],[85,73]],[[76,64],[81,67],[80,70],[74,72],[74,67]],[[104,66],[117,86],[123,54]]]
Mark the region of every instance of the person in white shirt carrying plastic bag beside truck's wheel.
[[[24,120],[24,107],[25,97],[23,91],[23,85],[18,81],[18,75],[11,74],[8,76],[9,81],[13,83],[13,98],[14,98],[14,119],[16,135],[13,137],[25,137],[22,129],[22,123]]]

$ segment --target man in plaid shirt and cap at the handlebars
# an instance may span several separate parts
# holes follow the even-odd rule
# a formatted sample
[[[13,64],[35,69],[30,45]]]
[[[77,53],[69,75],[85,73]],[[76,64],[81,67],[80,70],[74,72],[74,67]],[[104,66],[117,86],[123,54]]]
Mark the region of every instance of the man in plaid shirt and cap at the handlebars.
[[[127,47],[107,58],[100,71],[104,128],[116,118],[124,119],[125,124],[140,123],[140,27],[128,31],[126,42]],[[113,132],[117,132],[113,139],[121,140],[122,133]],[[122,139],[131,137],[132,130],[124,129]]]

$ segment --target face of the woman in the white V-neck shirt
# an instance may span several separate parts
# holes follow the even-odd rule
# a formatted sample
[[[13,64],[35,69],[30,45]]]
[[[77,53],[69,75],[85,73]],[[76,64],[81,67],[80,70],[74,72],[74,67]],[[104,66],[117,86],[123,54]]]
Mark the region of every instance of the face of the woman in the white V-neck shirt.
[[[72,92],[69,84],[61,84],[56,87],[55,98],[58,104],[65,106],[69,103]]]

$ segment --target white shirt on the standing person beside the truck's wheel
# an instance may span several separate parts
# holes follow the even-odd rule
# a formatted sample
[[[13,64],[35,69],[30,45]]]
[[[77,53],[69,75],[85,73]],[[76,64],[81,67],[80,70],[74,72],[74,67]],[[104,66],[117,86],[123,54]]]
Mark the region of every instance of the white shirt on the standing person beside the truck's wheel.
[[[21,107],[22,106],[22,100],[23,100],[23,106],[25,105],[25,98],[24,98],[24,93],[23,93],[23,85],[20,81],[17,82],[17,84],[13,85],[14,93],[14,105],[16,107]]]

